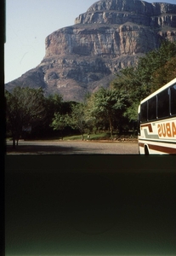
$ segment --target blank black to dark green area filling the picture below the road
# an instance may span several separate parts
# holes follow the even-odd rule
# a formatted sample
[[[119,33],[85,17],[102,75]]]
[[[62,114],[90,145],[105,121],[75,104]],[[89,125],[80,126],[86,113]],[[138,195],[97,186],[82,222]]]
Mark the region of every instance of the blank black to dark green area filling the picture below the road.
[[[7,155],[6,256],[176,255],[175,163]]]

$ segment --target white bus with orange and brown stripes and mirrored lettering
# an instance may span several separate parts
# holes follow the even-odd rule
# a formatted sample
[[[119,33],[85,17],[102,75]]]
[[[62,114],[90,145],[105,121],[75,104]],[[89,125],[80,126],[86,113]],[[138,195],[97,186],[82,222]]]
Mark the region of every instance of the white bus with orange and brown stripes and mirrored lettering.
[[[176,154],[176,79],[139,104],[139,154]]]

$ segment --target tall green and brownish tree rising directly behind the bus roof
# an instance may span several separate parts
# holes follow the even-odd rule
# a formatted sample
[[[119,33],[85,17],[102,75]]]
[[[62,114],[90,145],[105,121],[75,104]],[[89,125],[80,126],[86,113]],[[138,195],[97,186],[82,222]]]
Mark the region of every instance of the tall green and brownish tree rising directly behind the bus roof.
[[[124,91],[128,96],[128,108],[124,116],[128,122],[137,116],[139,102],[176,77],[176,42],[164,41],[155,49],[139,58],[134,67],[126,67],[116,74],[111,88]]]

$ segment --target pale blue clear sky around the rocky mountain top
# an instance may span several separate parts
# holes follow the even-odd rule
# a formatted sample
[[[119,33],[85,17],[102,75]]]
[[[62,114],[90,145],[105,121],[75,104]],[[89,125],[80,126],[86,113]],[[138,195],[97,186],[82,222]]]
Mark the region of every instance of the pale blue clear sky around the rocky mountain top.
[[[37,67],[45,55],[45,38],[74,25],[96,0],[6,0],[5,83]],[[147,0],[175,3],[176,0]]]

